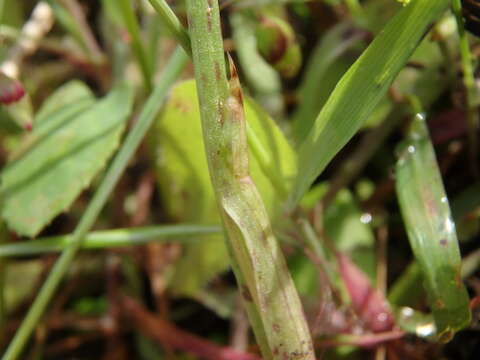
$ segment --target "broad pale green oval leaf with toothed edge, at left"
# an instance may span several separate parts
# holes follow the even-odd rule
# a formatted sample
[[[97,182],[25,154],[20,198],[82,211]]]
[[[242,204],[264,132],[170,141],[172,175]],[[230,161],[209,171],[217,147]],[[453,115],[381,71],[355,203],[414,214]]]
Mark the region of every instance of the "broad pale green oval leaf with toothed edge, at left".
[[[35,236],[72,204],[118,146],[132,95],[121,85],[88,110],[88,99],[72,103],[34,129],[1,176],[1,215],[10,228]]]

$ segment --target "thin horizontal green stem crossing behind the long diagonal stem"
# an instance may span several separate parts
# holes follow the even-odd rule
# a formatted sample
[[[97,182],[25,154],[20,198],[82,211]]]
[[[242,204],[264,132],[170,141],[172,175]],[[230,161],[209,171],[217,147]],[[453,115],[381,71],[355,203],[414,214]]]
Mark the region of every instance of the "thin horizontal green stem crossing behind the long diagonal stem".
[[[221,233],[219,227],[205,225],[160,225],[94,231],[85,236],[82,242],[82,249],[136,246],[150,242],[194,242],[198,236],[219,233]],[[0,245],[0,261],[5,257],[32,256],[62,251],[69,246],[71,240],[72,235],[69,234],[33,241],[2,244]]]

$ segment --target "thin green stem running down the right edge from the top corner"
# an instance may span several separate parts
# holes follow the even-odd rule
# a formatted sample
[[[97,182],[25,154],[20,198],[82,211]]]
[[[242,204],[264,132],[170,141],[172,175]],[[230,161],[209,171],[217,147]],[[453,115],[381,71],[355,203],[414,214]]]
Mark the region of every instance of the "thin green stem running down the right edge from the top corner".
[[[480,175],[478,168],[478,93],[475,86],[475,76],[473,74],[472,60],[473,56],[470,52],[467,32],[465,31],[461,0],[452,0],[452,9],[457,21],[458,34],[460,36],[460,56],[462,59],[463,85],[466,90],[467,101],[467,123],[468,123],[468,140],[470,143],[470,165],[473,174],[478,177]]]

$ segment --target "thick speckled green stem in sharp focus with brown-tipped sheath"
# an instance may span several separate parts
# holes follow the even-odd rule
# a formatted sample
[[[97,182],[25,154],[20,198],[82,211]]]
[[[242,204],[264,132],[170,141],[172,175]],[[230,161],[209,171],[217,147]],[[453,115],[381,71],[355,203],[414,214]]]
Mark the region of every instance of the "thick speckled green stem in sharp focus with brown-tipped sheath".
[[[233,65],[227,80],[218,1],[186,3],[210,176],[252,327],[265,359],[313,360],[300,299],[249,175],[242,94]]]

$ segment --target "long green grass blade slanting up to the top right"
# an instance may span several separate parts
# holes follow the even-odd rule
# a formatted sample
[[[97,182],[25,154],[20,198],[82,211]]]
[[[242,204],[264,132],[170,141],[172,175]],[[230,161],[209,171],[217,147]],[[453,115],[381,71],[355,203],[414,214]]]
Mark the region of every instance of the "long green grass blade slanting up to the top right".
[[[289,209],[368,119],[429,26],[449,4],[448,0],[415,0],[403,7],[342,77],[300,146]]]

